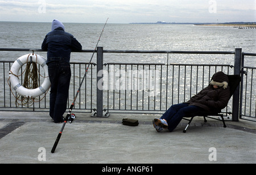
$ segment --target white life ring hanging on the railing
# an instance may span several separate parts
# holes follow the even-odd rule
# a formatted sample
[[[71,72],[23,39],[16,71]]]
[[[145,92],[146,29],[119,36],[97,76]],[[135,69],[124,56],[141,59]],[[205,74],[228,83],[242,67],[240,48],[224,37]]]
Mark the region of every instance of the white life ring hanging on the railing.
[[[19,69],[22,68],[22,66],[24,64],[26,64],[27,62],[30,62],[30,61],[36,62],[37,64],[41,65],[43,67],[44,73],[45,73],[45,76],[44,76],[45,78],[44,78],[43,84],[36,89],[27,89],[27,88],[23,87],[20,84],[19,78],[17,76],[19,73]],[[14,64],[11,66],[9,76],[10,76],[11,86],[13,86],[13,89],[18,94],[26,96],[26,97],[38,97],[38,96],[46,93],[46,91],[51,86],[51,82],[49,81],[49,76],[48,76],[48,66],[46,65],[46,59],[44,59],[44,57],[42,57],[40,55],[36,55],[36,54],[32,54],[32,53],[19,57],[14,62]]]

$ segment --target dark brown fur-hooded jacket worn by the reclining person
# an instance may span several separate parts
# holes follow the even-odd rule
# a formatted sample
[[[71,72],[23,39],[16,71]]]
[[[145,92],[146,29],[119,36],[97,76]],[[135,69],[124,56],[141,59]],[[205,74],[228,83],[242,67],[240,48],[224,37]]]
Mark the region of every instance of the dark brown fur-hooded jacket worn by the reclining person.
[[[199,106],[205,111],[220,112],[224,109],[230,99],[229,78],[223,72],[217,72],[213,75],[209,86],[205,87],[198,94],[191,97],[187,103],[189,106]],[[213,86],[217,85],[215,89]]]

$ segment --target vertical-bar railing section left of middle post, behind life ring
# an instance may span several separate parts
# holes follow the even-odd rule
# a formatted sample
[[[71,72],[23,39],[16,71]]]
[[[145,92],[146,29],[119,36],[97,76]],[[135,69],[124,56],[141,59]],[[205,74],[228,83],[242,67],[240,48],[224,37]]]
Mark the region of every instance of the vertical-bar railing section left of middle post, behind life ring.
[[[32,103],[32,106],[23,105],[22,99],[20,99],[19,94],[15,92],[13,88],[10,88],[11,84],[8,84],[9,80],[9,70],[11,68],[11,65],[13,64],[13,61],[0,61],[0,81],[4,82],[0,85],[0,110],[15,110],[15,111],[48,111],[49,109],[49,91],[44,93],[43,95],[40,95],[39,97],[36,97],[34,99],[34,103]],[[24,65],[25,66],[25,65]],[[20,72],[23,72],[24,66],[21,68]],[[88,63],[77,63],[77,62],[71,62],[71,71],[72,71],[72,77],[71,77],[71,85],[69,88],[69,100],[68,100],[68,106],[71,105],[71,100],[75,98],[75,94],[77,89],[79,88],[81,79],[83,74],[82,70],[85,70],[87,68]],[[82,93],[80,93],[76,99],[76,105],[75,109],[84,111],[87,113],[92,113],[93,109],[93,93],[94,90],[96,90],[96,84],[93,83],[93,79],[96,79],[96,72],[94,72],[93,67],[96,66],[96,64],[92,63],[90,64],[90,68],[92,71],[87,74],[84,86],[81,87]],[[43,69],[39,68],[40,74],[43,74]],[[39,76],[40,78],[40,76]],[[44,78],[42,78],[44,79]],[[20,82],[23,82],[24,76],[19,77]],[[40,80],[39,80],[40,81]],[[42,83],[43,80],[40,82]],[[10,82],[9,82],[10,83]],[[25,101],[26,103],[26,101]]]

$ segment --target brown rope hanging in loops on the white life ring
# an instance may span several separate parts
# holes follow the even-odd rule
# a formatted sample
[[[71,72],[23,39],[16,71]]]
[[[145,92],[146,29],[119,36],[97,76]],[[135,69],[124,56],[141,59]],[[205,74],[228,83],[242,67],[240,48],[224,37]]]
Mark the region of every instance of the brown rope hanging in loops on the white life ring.
[[[20,75],[14,74],[13,72],[11,72],[11,70],[10,70],[9,74],[13,74],[15,77],[19,78],[20,76],[22,76],[25,73],[23,86],[26,87],[27,89],[36,89],[37,87],[39,87],[38,74],[43,78],[47,78],[47,77],[42,76],[40,74],[40,71],[39,71],[38,66],[37,66],[38,56],[35,54],[36,62],[32,62],[31,60],[29,60],[30,55],[27,56],[26,68],[24,69],[24,71]],[[32,53],[32,55],[34,55],[34,53]],[[11,85],[10,85],[9,81],[10,81],[10,76],[9,76],[9,79],[7,80],[7,83],[10,87],[10,90],[11,90]],[[20,95],[20,94],[15,95],[13,93],[13,90],[11,90],[11,93],[13,94],[13,96],[16,99],[15,100],[16,107],[18,107],[19,105],[30,107],[34,104],[34,102],[42,101],[42,99],[44,99],[46,97],[46,94],[48,93],[48,91],[49,91],[49,89],[46,91],[46,93],[44,93],[44,97],[39,99],[39,101],[35,101],[35,99],[36,99],[35,97],[24,97],[23,95]]]

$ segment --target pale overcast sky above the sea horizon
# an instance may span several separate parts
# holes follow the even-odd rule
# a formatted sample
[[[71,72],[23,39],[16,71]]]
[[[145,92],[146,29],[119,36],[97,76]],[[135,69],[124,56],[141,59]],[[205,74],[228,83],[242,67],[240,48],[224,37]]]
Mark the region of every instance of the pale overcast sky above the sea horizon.
[[[256,0],[0,0],[0,21],[256,22]]]

